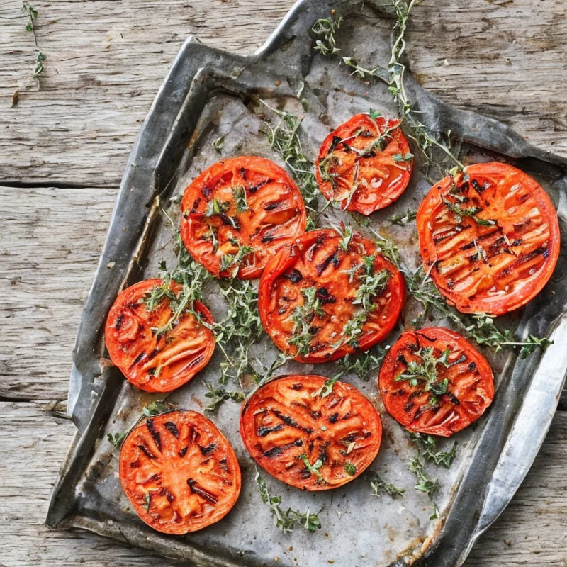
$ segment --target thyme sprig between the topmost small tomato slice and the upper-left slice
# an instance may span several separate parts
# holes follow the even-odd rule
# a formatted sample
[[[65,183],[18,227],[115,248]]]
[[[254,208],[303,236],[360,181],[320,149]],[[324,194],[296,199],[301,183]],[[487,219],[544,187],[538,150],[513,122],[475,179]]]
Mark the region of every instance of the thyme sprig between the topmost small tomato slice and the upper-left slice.
[[[307,230],[313,230],[318,210],[319,186],[313,173],[313,162],[305,155],[298,135],[303,118],[271,108],[264,101],[262,103],[280,118],[275,128],[264,121],[264,133],[268,137],[271,149],[277,152],[291,169],[305,201],[305,207],[310,211]]]

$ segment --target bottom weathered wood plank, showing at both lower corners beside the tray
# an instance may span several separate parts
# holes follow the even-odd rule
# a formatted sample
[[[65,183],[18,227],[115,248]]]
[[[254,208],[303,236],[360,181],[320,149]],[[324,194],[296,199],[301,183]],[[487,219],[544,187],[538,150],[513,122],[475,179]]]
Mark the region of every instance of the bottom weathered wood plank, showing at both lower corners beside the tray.
[[[46,411],[49,407],[42,403],[0,403],[4,417],[0,437],[0,565],[172,566],[170,561],[101,537],[53,532],[44,527],[57,468],[74,433],[69,421]],[[567,565],[566,436],[567,413],[561,412],[522,488],[473,549],[466,567]]]

